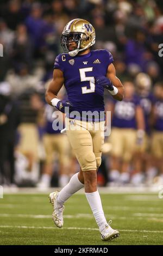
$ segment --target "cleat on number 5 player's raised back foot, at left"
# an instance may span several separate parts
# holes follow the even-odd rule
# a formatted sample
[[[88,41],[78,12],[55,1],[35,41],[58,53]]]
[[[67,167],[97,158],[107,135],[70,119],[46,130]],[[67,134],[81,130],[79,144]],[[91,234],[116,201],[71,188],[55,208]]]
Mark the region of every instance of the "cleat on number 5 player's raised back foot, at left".
[[[65,206],[58,204],[57,202],[58,193],[59,193],[58,191],[55,191],[49,194],[49,201],[53,206],[53,214],[52,214],[53,222],[55,225],[57,225],[58,228],[61,228],[64,225],[63,211]]]

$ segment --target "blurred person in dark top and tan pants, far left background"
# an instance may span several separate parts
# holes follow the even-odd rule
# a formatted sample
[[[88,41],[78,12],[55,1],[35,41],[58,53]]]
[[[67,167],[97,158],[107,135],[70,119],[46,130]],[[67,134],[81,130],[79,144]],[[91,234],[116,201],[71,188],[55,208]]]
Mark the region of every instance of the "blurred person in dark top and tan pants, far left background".
[[[43,112],[43,102],[34,90],[26,90],[20,96],[21,124],[16,157],[16,180],[18,184],[35,186],[39,179],[39,115]],[[24,158],[25,157],[25,158]],[[25,161],[21,161],[21,158]],[[24,164],[21,166],[21,162]]]

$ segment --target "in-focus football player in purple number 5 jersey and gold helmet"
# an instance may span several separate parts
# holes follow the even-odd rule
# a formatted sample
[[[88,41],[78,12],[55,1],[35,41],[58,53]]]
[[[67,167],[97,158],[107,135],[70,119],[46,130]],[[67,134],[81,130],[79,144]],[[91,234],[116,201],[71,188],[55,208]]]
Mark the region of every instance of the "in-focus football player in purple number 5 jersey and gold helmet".
[[[104,142],[104,89],[120,101],[124,89],[116,77],[111,53],[93,51],[91,46],[94,44],[95,29],[88,21],[74,19],[67,23],[61,35],[64,53],[55,59],[53,80],[46,91],[46,101],[61,112],[66,112],[69,107],[66,133],[81,169],[60,192],[51,193],[49,199],[54,208],[53,221],[61,228],[65,201],[84,187],[101,239],[111,240],[118,237],[119,232],[110,227],[110,222],[106,222],[97,190],[96,172],[101,164]],[[68,101],[57,97],[63,84]]]

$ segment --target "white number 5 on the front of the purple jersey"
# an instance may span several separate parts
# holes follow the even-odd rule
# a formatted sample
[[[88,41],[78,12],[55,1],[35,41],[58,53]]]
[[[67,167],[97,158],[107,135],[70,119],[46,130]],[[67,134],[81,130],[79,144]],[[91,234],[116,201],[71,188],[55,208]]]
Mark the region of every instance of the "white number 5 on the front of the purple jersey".
[[[93,76],[86,76],[86,72],[92,71],[93,68],[84,68],[84,69],[79,69],[80,72],[80,81],[89,81],[90,82],[90,88],[88,89],[86,86],[82,87],[82,93],[95,93],[95,78]]]

